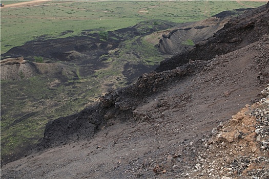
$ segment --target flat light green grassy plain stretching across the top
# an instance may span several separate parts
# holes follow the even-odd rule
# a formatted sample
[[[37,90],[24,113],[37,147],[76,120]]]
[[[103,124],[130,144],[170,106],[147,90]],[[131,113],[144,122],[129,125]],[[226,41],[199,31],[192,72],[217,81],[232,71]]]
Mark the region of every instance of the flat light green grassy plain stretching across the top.
[[[4,4],[22,1],[2,1]],[[186,23],[225,10],[259,7],[266,2],[240,1],[48,1],[34,6],[1,8],[1,54],[43,35],[77,36],[82,30],[126,28],[160,19]],[[61,33],[72,30],[72,34]],[[93,31],[94,32],[94,31]]]

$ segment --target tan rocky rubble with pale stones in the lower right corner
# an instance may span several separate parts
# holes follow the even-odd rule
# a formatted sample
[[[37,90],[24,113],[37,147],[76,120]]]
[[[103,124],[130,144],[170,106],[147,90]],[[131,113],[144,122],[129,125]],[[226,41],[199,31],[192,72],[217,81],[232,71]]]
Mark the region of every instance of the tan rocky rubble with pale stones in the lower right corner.
[[[269,86],[269,84],[268,84]],[[183,176],[191,178],[266,178],[269,175],[269,95],[245,105],[236,115],[212,130],[204,141],[196,166]],[[197,167],[198,166],[198,167]]]

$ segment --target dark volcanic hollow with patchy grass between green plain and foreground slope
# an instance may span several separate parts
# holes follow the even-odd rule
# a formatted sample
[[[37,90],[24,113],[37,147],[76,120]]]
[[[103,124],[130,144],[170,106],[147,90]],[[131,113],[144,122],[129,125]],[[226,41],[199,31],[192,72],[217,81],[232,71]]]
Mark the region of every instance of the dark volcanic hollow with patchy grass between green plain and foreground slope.
[[[240,9],[236,14],[244,11]],[[194,41],[199,41],[223,27],[233,13],[223,12],[222,16],[182,24],[180,27],[188,29],[192,26],[185,32],[188,34],[185,37],[187,39],[196,33]],[[48,121],[77,113],[89,103],[97,101],[100,94],[133,83],[141,74],[154,70],[158,61],[171,57],[159,53],[152,44],[157,44],[162,33],[168,31],[160,30],[174,26],[178,25],[159,20],[145,21],[108,32],[108,41],[100,39],[99,33],[93,33],[93,30],[85,30],[81,36],[57,39],[41,35],[24,46],[14,47],[2,54],[1,58],[20,57],[25,61],[11,63],[10,58],[1,60],[1,127],[4,131],[1,133],[1,164],[24,156],[24,151],[32,148],[43,136]],[[102,32],[102,29],[98,31]],[[62,35],[72,32],[65,31]],[[175,34],[171,39],[176,39]],[[168,49],[168,43],[164,45]],[[179,51],[177,47],[174,49]],[[40,63],[40,60],[43,62]],[[17,109],[22,110],[18,113]],[[24,127],[18,127],[22,123]],[[26,123],[32,128],[25,127]],[[40,124],[37,127],[44,128],[36,130],[33,124],[37,123]],[[37,133],[32,135],[32,131]]]

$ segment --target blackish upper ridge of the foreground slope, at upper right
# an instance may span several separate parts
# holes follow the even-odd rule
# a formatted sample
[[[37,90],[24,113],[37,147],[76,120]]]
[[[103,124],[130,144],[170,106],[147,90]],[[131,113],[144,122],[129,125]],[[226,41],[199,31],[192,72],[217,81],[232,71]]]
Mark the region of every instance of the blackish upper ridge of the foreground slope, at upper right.
[[[187,52],[162,61],[156,72],[174,69],[189,60],[210,60],[216,55],[232,52],[257,41],[269,32],[268,7],[267,3],[231,19],[213,37],[196,43],[195,47]]]

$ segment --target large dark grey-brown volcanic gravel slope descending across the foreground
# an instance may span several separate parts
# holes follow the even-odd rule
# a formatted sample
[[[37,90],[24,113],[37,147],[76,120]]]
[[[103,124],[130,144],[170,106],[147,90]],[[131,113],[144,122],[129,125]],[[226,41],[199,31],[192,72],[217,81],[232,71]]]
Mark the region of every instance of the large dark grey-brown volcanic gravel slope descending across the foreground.
[[[237,18],[256,14],[258,19],[253,20],[263,19],[267,16],[268,5]],[[268,25],[261,23],[259,27],[266,29]],[[236,30],[236,25],[231,24],[231,28]],[[221,32],[214,38],[228,35]],[[98,105],[48,123],[43,141],[38,145],[39,151],[4,165],[1,178],[205,178],[213,174],[213,178],[266,178],[267,175],[263,175],[268,172],[266,141],[260,147],[257,140],[262,130],[255,133],[241,129],[241,137],[247,136],[251,140],[245,144],[258,141],[255,151],[237,142],[231,144],[244,138],[239,139],[239,131],[237,139],[233,135],[231,142],[225,137],[224,132],[236,131],[232,127],[237,125],[230,128],[222,125],[223,129],[218,129],[222,132],[220,139],[215,139],[215,127],[233,115],[235,122],[243,120],[237,112],[245,104],[260,101],[263,98],[260,92],[269,83],[268,31],[243,47],[241,44],[224,55],[215,56],[212,52],[213,58],[207,61],[195,60],[180,66],[172,64],[176,67],[172,66],[171,70],[143,74],[133,85],[118,88],[100,98]],[[207,42],[203,46],[208,47]],[[221,49],[223,43],[214,46]],[[264,110],[268,111],[268,106],[265,105]],[[259,114],[253,115],[254,124],[256,118],[262,121]],[[211,138],[212,129],[215,132]],[[252,138],[247,132],[253,132]],[[204,150],[204,142],[210,139],[213,142],[206,144],[211,147]],[[232,147],[233,144],[238,144],[241,150],[233,152],[231,148],[235,160],[229,158],[229,152],[224,152],[227,150],[225,146]],[[211,151],[219,151],[229,160],[214,165]],[[253,152],[254,158],[245,158]],[[206,163],[209,166],[205,166],[202,159],[210,161]],[[242,163],[246,165],[240,167]],[[213,170],[221,168],[222,164],[224,168],[234,167],[214,173]],[[265,166],[264,171],[257,170],[254,164]]]

